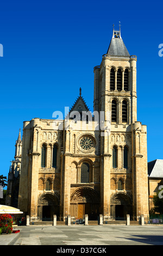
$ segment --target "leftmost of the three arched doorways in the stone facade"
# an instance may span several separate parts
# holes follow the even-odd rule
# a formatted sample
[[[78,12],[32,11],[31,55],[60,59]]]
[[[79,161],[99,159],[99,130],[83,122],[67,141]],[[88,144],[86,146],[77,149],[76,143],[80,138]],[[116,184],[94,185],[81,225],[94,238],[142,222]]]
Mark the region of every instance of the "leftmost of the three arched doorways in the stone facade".
[[[42,221],[52,221],[53,215],[59,218],[59,199],[53,193],[43,193],[38,199],[37,216]]]

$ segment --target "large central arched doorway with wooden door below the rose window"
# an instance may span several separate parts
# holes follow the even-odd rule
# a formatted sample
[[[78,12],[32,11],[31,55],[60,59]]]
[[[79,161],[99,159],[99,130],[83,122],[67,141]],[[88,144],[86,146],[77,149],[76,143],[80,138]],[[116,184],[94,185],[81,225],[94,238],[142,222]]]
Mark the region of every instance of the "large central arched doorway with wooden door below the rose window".
[[[98,220],[99,194],[90,187],[77,188],[71,195],[71,216],[84,218],[88,215],[89,220]]]

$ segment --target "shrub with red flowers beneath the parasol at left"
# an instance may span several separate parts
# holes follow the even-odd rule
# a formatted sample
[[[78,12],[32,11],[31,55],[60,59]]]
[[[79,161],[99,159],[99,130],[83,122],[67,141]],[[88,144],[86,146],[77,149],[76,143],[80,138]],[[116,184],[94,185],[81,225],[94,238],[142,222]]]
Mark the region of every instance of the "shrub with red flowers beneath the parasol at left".
[[[0,229],[2,233],[11,234],[12,233],[12,217],[10,214],[0,215]]]

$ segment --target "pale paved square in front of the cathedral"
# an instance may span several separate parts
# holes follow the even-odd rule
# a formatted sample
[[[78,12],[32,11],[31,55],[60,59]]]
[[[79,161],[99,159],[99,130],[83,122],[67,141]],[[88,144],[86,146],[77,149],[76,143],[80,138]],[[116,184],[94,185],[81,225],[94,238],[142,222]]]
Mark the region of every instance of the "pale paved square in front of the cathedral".
[[[163,226],[71,225],[21,226],[20,233],[0,235],[0,245],[163,245]]]

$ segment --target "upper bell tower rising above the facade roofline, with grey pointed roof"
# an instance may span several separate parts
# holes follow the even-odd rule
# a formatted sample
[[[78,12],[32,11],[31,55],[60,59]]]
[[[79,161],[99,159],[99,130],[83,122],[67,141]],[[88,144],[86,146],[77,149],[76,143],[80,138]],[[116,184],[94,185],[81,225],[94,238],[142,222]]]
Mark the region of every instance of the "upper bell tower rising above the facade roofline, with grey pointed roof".
[[[121,29],[113,27],[108,51],[94,68],[94,111],[109,111],[112,124],[137,120],[136,61],[124,45]]]

